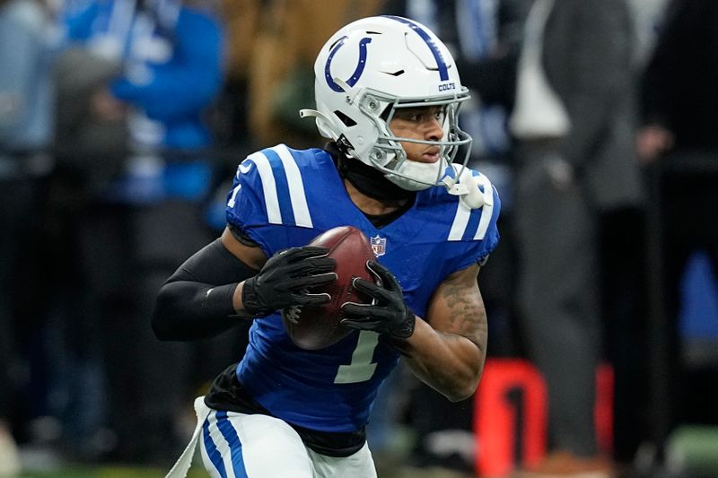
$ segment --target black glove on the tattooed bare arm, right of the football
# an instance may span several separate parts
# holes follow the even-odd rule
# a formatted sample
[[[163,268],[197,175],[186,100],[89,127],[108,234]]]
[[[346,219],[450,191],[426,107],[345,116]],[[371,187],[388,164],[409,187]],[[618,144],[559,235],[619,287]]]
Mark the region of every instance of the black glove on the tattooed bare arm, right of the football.
[[[408,308],[397,278],[383,265],[368,261],[369,269],[377,283],[355,277],[352,285],[373,300],[371,304],[345,302],[342,304],[344,318],[342,324],[360,330],[372,330],[379,334],[406,339],[414,334],[416,316]]]

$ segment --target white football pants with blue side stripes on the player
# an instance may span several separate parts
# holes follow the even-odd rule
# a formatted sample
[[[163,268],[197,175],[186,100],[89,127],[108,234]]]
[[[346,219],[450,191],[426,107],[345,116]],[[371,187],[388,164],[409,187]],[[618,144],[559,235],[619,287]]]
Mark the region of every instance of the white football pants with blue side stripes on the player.
[[[376,478],[368,445],[336,458],[306,448],[286,422],[261,414],[218,412],[195,401],[197,428],[167,478],[184,478],[197,441],[213,478]]]

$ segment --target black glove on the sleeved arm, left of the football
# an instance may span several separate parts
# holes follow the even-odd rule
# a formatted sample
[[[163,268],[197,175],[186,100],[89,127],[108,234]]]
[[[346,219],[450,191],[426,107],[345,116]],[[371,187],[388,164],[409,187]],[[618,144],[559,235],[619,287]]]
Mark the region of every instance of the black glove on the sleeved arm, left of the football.
[[[269,257],[259,274],[247,279],[241,302],[253,317],[265,317],[291,306],[323,304],[328,293],[310,293],[309,289],[337,280],[331,272],[337,266],[327,257],[328,248],[304,246],[288,248]]]

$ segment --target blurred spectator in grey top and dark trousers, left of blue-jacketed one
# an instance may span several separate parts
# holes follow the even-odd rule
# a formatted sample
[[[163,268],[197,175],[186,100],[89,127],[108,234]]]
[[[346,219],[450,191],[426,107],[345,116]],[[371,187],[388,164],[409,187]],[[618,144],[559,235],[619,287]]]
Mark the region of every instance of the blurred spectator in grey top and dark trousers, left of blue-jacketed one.
[[[126,154],[124,108],[101,93],[120,67],[84,48],[60,45],[53,72],[56,168],[39,207],[35,242],[42,246],[33,252],[43,278],[36,287],[46,293],[31,308],[39,322],[29,370],[37,404],[25,405],[22,439],[28,447],[49,453],[61,448],[82,458],[108,446],[101,429],[107,407],[97,285],[85,276],[80,239],[92,196],[108,186]]]

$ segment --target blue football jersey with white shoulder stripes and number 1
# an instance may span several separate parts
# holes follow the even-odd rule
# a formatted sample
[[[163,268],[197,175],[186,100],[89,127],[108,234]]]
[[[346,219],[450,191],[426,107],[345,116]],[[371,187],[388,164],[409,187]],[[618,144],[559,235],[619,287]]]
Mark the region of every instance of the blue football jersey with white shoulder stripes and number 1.
[[[396,275],[408,306],[424,317],[436,287],[482,261],[499,239],[498,195],[488,179],[472,172],[482,179],[482,208],[471,210],[444,187],[430,187],[417,192],[406,213],[377,229],[352,203],[328,152],[280,144],[241,162],[227,221],[267,257],[304,246],[326,230],[354,226]],[[302,350],[276,313],[254,320],[237,377],[276,417],[311,430],[346,432],[366,424],[377,389],[397,362],[398,353],[368,331],[355,331],[326,349]]]

